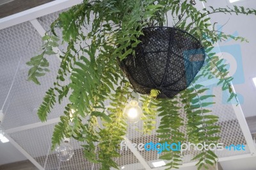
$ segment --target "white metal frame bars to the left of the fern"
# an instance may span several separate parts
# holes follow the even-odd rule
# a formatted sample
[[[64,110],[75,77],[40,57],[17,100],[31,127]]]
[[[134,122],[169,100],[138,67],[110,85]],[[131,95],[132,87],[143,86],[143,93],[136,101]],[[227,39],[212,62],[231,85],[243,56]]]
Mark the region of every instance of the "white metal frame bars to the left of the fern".
[[[43,4],[41,6],[37,6],[35,8],[31,8],[31,9],[26,10],[24,12],[20,12],[20,13],[14,14],[14,15],[10,15],[8,17],[0,19],[0,29],[4,29],[6,27],[11,27],[11,26],[14,26],[16,24],[20,24],[22,22],[30,21],[31,24],[36,28],[36,31],[38,31],[38,33],[41,36],[44,36],[45,35],[45,30],[43,29],[42,25],[40,25],[38,20],[36,20],[36,18],[42,17],[42,16],[47,15],[49,13],[54,13],[54,12],[58,12],[60,10],[64,10],[66,8],[69,8],[71,6],[79,4],[82,1],[83,0],[56,0],[56,1],[52,1],[51,3],[47,3],[47,4]],[[61,50],[57,49],[57,48],[53,49],[53,50],[55,52],[58,52],[58,54],[56,54],[56,56],[58,56],[58,58],[59,58],[59,56],[62,54]],[[60,121],[60,118],[48,120],[45,123],[41,123],[41,122],[40,123],[33,123],[31,125],[25,125],[25,126],[22,126],[22,127],[12,128],[12,129],[6,130],[6,137],[9,139],[10,143],[12,143],[13,146],[15,146],[15,148],[17,148],[17,150],[19,150],[26,158],[28,158],[28,160],[31,161],[31,163],[33,163],[38,169],[43,170],[44,167],[40,166],[40,164],[38,164],[38,162],[36,162],[36,160],[33,157],[31,157],[31,155],[29,155],[29,153],[26,152],[8,134],[12,134],[14,132],[20,132],[22,130],[28,130],[28,129],[31,129],[31,128],[42,127],[42,126],[45,126],[45,125],[50,125],[52,123],[58,123],[58,121]]]

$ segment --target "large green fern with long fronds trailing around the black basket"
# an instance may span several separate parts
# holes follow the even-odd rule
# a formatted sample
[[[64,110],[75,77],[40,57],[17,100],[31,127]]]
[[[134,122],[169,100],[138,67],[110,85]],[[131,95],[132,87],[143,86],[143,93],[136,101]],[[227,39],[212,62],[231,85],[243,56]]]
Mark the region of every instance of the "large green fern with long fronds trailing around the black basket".
[[[204,8],[198,11],[195,3],[206,0],[102,0],[78,4],[60,13],[51,24],[51,30],[43,37],[42,54],[31,58],[28,80],[40,84],[39,77],[49,72],[47,58],[56,54],[54,47],[67,43],[67,50],[60,56],[61,63],[56,81],[52,84],[38,109],[38,117],[47,121],[56,102],[68,97],[70,104],[65,107],[61,121],[54,128],[52,150],[60,144],[63,137],[73,137],[84,142],[84,157],[102,165],[102,169],[118,168],[113,158],[120,157],[118,147],[125,135],[127,123],[122,109],[131,98],[132,87],[120,70],[117,58],[122,60],[129,54],[135,55],[134,47],[143,35],[143,27],[166,26],[172,20],[172,26],[195,36],[205,48],[205,65],[195,77],[188,89],[181,91],[173,99],[157,99],[159,91],[152,89],[151,94],[141,95],[145,134],[157,129],[161,141],[193,141],[195,143],[216,143],[220,137],[220,127],[216,125],[218,117],[205,109],[213,103],[205,102],[213,95],[205,95],[207,89],[196,80],[202,77],[218,79],[223,91],[230,92],[230,98],[236,98],[232,91],[232,77],[228,77],[227,67],[212,49],[214,43],[232,38],[246,41],[244,38],[226,35],[211,29],[209,16],[212,13],[235,13],[255,15],[256,10],[233,6],[227,8]],[[170,12],[170,15],[167,15]],[[58,37],[56,29],[61,29]],[[106,108],[104,101],[111,101]],[[183,107],[180,106],[183,105]],[[185,118],[180,111],[186,112]],[[70,114],[72,112],[72,114]],[[156,118],[161,122],[156,127]],[[86,120],[84,123],[84,120]],[[101,123],[99,123],[99,121]],[[102,126],[100,126],[102,125]],[[180,127],[186,127],[183,134]],[[97,143],[97,145],[96,145]],[[167,169],[178,168],[182,155],[177,151],[164,153],[161,158],[169,160]],[[202,150],[194,160],[198,160],[198,169],[214,165],[217,156],[212,151]]]

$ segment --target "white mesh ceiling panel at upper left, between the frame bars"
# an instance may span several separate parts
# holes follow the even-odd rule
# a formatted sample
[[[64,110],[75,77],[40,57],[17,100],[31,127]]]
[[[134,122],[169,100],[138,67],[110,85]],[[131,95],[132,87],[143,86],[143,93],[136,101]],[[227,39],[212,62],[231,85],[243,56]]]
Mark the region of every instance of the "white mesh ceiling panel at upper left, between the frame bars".
[[[26,62],[40,52],[42,45],[41,37],[30,22],[0,30],[0,43],[1,105],[7,96],[21,58],[12,91],[6,105],[4,105],[3,111],[6,116],[3,127],[9,129],[36,123],[39,121],[36,111],[42,102],[45,91],[52,86],[60,61],[56,56],[49,57],[51,72],[47,73],[46,77],[40,78],[41,85],[38,86],[27,81],[29,67],[26,66]],[[49,115],[49,119],[59,117],[62,111],[63,107],[56,105],[56,108]]]

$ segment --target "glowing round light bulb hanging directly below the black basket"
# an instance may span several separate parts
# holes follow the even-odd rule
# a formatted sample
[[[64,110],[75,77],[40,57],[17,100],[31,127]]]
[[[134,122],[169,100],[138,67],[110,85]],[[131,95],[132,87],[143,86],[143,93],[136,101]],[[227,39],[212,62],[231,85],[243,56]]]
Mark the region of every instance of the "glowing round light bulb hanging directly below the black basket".
[[[124,108],[124,118],[130,123],[136,123],[140,121],[142,116],[142,110],[136,100],[131,100]]]

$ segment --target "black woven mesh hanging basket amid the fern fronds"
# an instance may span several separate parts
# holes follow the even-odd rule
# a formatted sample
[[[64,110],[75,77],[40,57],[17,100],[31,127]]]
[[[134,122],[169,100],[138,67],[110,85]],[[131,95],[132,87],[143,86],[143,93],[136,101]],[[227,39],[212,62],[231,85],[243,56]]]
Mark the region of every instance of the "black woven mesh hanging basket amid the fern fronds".
[[[194,36],[173,27],[146,27],[143,33],[135,56],[120,61],[120,68],[138,93],[158,89],[157,98],[173,98],[188,88],[203,66],[204,47]]]

